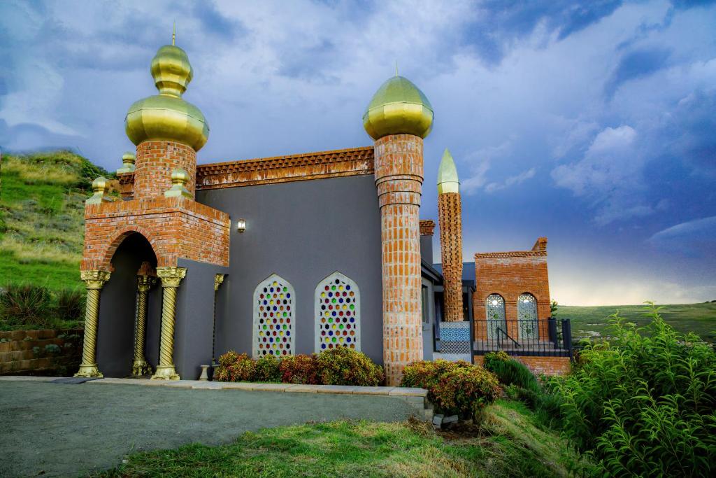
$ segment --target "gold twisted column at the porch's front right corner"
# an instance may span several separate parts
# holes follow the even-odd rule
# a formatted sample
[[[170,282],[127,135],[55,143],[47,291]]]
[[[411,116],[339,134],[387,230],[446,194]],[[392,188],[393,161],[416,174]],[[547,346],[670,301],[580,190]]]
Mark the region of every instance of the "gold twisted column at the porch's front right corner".
[[[159,365],[152,380],[179,380],[174,369],[174,313],[176,310],[177,287],[186,276],[185,267],[158,267],[157,275],[162,280],[162,336],[159,343]]]

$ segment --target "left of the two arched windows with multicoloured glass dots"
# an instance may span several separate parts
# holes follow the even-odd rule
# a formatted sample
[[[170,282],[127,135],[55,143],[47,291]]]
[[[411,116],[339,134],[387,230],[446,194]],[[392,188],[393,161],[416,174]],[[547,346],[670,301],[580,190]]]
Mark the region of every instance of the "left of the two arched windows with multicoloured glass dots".
[[[294,355],[294,287],[276,274],[253,291],[253,357]]]

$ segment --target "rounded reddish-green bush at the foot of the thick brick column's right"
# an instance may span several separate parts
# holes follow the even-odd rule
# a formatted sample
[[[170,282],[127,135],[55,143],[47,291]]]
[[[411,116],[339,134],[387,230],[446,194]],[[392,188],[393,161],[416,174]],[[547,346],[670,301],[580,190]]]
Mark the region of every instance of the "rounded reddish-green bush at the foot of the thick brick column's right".
[[[501,391],[493,373],[479,365],[448,360],[422,360],[407,365],[400,386],[425,388],[437,411],[463,418],[475,416]]]

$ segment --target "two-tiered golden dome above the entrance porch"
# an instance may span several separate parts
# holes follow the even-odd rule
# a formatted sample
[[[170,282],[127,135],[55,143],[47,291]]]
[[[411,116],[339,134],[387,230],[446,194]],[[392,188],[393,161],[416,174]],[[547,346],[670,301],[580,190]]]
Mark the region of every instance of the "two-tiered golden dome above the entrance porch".
[[[159,95],[130,106],[125,118],[127,137],[135,145],[168,140],[200,150],[209,138],[209,125],[199,108],[181,97],[193,77],[186,52],[174,44],[161,47],[152,59],[151,72]]]

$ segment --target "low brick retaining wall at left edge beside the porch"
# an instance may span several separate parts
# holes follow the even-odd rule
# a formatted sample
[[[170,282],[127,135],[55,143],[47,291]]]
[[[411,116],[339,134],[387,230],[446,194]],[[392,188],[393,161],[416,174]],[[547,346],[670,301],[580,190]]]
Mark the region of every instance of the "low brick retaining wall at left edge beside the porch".
[[[82,358],[82,329],[0,332],[0,375],[68,375]]]

